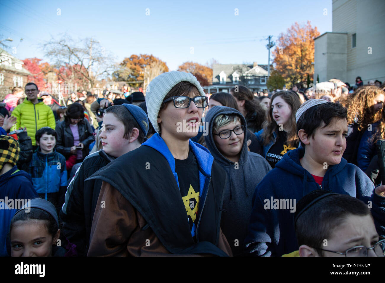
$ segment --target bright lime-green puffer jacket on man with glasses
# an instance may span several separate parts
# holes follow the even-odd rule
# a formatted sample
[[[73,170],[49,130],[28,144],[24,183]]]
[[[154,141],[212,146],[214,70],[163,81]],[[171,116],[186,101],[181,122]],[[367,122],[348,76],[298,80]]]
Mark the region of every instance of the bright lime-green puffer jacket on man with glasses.
[[[12,116],[17,118],[16,126],[12,127],[15,131],[19,127],[27,127],[28,136],[31,137],[32,145],[36,145],[35,134],[42,127],[55,129],[55,116],[51,108],[45,105],[43,99],[39,103],[33,104],[28,99],[17,105],[12,111]]]

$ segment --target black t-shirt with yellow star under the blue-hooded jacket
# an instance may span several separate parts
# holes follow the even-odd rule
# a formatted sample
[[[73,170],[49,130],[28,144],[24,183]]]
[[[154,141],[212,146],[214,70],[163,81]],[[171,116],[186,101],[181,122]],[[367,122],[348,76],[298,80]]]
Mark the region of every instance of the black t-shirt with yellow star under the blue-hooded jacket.
[[[186,221],[192,228],[192,223],[198,223],[199,209],[199,171],[194,154],[189,151],[187,159],[175,159],[175,171],[178,174],[179,190],[186,208]]]

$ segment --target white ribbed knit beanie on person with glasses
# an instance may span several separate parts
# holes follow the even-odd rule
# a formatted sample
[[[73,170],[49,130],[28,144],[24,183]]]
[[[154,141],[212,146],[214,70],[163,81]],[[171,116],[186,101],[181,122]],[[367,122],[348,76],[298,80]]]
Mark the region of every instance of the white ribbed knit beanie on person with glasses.
[[[154,78],[146,88],[146,106],[148,119],[158,133],[160,129],[157,120],[164,97],[180,82],[190,82],[197,87],[200,95],[206,96],[198,80],[191,73],[171,71]]]

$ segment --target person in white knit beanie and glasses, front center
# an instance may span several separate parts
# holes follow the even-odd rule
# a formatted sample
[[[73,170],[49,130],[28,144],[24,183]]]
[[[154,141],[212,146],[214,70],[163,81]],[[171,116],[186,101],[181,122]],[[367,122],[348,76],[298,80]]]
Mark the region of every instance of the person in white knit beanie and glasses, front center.
[[[190,140],[207,104],[192,74],[167,72],[150,82],[146,105],[157,133],[91,177],[103,180],[99,199],[109,209],[95,211],[89,256],[232,255],[220,228],[226,173]]]

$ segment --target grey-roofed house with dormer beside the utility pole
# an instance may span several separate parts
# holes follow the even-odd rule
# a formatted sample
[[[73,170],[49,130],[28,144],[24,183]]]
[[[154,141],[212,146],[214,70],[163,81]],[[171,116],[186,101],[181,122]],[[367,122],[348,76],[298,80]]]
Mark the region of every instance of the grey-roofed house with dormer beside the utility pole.
[[[270,65],[272,69],[273,66]],[[266,89],[268,65],[214,64],[213,84],[203,87],[207,93],[229,92],[236,85],[248,87],[252,92]]]

